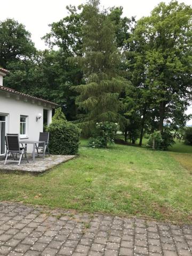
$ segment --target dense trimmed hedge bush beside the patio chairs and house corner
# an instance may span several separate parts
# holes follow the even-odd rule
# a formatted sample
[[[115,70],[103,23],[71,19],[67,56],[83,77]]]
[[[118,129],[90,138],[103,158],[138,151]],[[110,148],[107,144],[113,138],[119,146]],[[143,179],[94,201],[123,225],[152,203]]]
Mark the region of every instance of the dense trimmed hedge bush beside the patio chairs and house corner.
[[[59,112],[60,110],[58,110]],[[59,115],[57,110],[52,123],[47,127],[50,132],[49,148],[51,154],[75,155],[78,152],[81,130],[72,123],[66,121],[65,115]],[[61,113],[60,113],[61,114]],[[62,116],[62,118],[60,118]]]

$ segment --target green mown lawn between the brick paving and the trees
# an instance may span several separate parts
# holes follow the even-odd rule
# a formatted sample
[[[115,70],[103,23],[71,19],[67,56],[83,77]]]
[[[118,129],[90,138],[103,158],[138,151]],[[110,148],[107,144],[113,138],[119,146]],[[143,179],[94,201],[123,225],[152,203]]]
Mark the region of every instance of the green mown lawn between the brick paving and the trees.
[[[0,200],[191,222],[192,175],[178,158],[190,154],[86,143],[44,175],[0,174]]]

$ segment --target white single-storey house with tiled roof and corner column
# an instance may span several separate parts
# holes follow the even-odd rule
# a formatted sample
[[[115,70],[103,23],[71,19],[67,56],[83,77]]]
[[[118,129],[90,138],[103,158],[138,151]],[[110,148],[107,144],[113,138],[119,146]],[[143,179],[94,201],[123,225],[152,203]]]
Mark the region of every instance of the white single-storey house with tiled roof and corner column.
[[[0,68],[0,156],[5,154],[6,133],[19,133],[20,140],[38,140],[43,131],[43,114],[51,123],[56,103],[17,92],[3,86],[3,77],[9,71]],[[44,111],[46,110],[46,111]],[[30,145],[27,149],[32,150]]]

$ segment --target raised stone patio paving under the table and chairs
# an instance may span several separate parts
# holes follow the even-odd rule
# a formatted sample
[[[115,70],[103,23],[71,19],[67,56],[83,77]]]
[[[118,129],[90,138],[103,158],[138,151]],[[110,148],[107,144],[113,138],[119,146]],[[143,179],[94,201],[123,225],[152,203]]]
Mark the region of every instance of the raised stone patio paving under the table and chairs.
[[[33,162],[31,158],[31,154],[29,154],[29,163],[27,163],[26,159],[23,158],[20,166],[18,163],[7,162],[4,165],[4,158],[0,159],[0,171],[19,171],[19,172],[29,172],[33,174],[43,173],[58,164],[64,163],[73,159],[74,155],[50,155],[45,156],[45,159],[42,156],[36,157],[35,162]]]

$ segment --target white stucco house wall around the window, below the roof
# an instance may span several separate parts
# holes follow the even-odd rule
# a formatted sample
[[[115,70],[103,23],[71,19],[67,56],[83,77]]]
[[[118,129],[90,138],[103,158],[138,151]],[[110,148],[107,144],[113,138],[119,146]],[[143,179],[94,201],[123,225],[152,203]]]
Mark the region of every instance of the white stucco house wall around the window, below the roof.
[[[15,94],[7,94],[0,90],[0,115],[6,114],[7,116],[7,133],[20,133],[20,115],[28,116],[28,136],[27,138],[20,139],[21,141],[38,140],[39,132],[43,131],[43,109],[51,110],[51,108],[46,107],[43,102],[21,98]],[[42,118],[36,121],[36,116],[39,113],[42,114]],[[31,145],[27,146],[27,151],[32,151]]]

